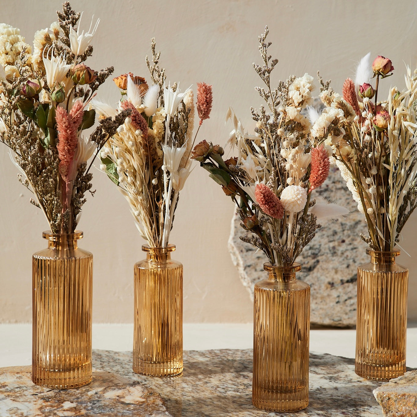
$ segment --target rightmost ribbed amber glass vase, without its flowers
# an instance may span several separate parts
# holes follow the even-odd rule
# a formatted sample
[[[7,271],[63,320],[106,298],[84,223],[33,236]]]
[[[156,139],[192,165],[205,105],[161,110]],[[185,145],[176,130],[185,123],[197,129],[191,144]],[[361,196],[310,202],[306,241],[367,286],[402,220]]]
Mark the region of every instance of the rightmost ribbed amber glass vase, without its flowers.
[[[408,269],[395,263],[399,250],[367,249],[358,267],[355,372],[388,381],[405,372]]]

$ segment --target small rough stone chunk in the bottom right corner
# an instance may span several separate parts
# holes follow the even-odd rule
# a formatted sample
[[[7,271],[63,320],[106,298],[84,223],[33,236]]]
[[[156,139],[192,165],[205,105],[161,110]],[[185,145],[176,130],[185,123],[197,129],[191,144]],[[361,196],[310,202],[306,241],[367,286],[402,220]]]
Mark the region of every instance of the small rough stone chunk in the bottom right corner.
[[[374,396],[384,416],[417,417],[417,370],[382,384],[374,389]]]

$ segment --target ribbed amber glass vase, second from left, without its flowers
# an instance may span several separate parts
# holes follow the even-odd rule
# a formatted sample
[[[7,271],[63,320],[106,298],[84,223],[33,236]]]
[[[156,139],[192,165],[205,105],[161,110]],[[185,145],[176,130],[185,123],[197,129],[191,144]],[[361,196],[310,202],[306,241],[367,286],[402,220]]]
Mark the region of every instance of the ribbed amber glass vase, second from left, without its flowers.
[[[133,371],[165,377],[183,370],[183,267],[171,259],[174,245],[142,246],[135,265]]]

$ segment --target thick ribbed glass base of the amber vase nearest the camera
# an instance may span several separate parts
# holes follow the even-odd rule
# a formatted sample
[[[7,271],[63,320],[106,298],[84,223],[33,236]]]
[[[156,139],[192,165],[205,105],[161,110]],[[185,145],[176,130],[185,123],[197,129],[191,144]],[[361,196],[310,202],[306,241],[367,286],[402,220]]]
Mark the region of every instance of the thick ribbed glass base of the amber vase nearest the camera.
[[[309,405],[309,390],[308,387],[291,391],[271,391],[258,388],[252,394],[252,404],[256,408],[266,411],[299,411]]]

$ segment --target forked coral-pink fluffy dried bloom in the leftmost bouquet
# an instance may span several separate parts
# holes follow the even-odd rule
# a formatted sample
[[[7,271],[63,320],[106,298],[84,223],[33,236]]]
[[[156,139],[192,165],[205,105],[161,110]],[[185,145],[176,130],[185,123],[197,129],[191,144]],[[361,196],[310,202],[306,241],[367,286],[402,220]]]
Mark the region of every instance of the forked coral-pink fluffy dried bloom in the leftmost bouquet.
[[[80,100],[74,103],[69,115],[65,108],[56,108],[55,120],[58,130],[58,145],[56,148],[61,161],[59,172],[64,179],[68,176],[68,171],[77,149],[78,128],[83,121],[83,108],[84,105]]]

